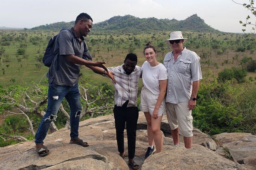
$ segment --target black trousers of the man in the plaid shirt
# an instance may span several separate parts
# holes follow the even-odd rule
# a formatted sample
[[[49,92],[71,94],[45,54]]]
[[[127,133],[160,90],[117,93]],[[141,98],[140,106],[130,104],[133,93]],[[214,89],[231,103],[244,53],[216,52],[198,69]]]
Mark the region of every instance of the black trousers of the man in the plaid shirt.
[[[114,118],[117,134],[118,152],[124,152],[123,131],[126,122],[126,132],[128,140],[128,158],[133,159],[136,147],[136,128],[139,118],[138,107],[127,107],[129,100],[127,100],[122,107],[115,105]]]

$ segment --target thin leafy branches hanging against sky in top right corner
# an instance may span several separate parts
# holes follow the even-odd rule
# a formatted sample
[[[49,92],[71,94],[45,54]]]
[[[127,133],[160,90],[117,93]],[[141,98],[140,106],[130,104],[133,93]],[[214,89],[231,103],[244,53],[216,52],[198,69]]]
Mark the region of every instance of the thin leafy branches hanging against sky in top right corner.
[[[232,0],[233,2],[235,2],[234,0]],[[245,8],[248,9],[248,11],[251,12],[251,14],[253,14],[255,17],[256,17],[256,7],[254,6],[254,0],[249,0],[249,4],[239,4],[237,2],[235,2],[236,4],[239,4],[239,5],[243,5]],[[249,33],[247,33],[247,36],[250,36],[252,37],[253,39],[255,39],[255,36],[254,36],[254,33],[255,33],[255,28],[256,28],[256,21],[255,23],[251,23],[250,20],[250,15],[248,15],[245,19],[245,22],[243,21],[239,21],[240,24],[242,24],[242,26],[246,27],[248,25],[252,26],[252,29]],[[245,29],[242,29],[242,31],[245,33]],[[245,33],[246,34],[246,33]]]

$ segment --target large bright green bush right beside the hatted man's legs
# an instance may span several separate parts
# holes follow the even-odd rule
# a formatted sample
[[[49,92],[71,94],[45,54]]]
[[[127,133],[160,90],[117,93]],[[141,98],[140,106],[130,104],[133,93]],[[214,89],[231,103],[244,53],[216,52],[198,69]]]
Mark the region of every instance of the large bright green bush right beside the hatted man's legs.
[[[233,88],[230,81],[205,81],[200,82],[197,107],[192,111],[194,127],[209,135],[242,132],[244,127],[241,122],[245,120],[241,111],[237,110],[237,102],[230,102],[231,94],[239,96],[240,88]]]

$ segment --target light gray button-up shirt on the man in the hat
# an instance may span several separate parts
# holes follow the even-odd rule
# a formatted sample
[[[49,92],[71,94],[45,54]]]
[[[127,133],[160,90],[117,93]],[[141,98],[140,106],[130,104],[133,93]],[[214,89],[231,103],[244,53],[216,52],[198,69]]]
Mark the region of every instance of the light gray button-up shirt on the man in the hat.
[[[173,51],[167,53],[164,65],[168,73],[166,102],[187,102],[191,97],[192,82],[202,79],[200,57],[185,47],[174,61]]]

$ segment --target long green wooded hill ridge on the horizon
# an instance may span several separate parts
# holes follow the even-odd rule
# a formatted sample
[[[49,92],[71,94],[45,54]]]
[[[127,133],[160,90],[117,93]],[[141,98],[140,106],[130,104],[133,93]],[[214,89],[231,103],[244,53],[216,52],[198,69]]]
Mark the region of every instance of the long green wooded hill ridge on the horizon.
[[[75,21],[69,23],[58,22],[52,24],[41,25],[32,28],[32,30],[50,29],[60,30],[63,28],[71,28]],[[197,16],[191,15],[185,20],[176,19],[157,19],[157,18],[138,18],[132,15],[115,16],[109,20],[100,23],[95,23],[92,27],[91,34],[98,32],[104,33],[152,33],[155,31],[196,31],[196,32],[219,32],[210,27],[204,20]]]

